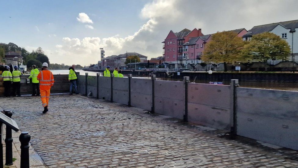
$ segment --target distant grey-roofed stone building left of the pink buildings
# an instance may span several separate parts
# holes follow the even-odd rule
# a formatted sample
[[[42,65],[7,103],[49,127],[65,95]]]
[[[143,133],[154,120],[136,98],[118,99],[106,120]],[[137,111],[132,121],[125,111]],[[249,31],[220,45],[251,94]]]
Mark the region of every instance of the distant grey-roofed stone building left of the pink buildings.
[[[147,60],[147,56],[139,54],[139,53],[124,53],[124,54],[119,54],[119,55],[111,55],[108,57],[105,57],[101,60],[101,67],[103,69],[105,69],[107,67],[107,65],[111,66],[112,69],[114,69],[115,67],[118,67],[121,69],[126,69],[125,66],[125,61],[126,58],[129,56],[133,56],[136,55],[140,58],[140,62],[144,62],[144,60]]]

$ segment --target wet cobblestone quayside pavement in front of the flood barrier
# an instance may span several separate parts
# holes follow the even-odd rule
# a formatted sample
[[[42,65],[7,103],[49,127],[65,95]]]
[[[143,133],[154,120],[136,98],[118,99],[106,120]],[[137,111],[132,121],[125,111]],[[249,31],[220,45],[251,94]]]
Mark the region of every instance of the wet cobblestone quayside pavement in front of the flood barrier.
[[[0,98],[0,107],[13,111],[50,168],[298,167],[282,154],[297,156],[297,151],[272,152],[105,100],[51,95],[47,114],[38,97]]]

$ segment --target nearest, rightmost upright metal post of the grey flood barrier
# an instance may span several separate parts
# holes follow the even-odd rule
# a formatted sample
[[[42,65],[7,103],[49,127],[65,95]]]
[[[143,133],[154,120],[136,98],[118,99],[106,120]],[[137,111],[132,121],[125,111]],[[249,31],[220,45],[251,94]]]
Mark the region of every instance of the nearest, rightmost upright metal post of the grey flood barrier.
[[[239,86],[238,79],[231,80],[231,117],[230,117],[230,125],[231,125],[231,139],[234,139],[235,135],[237,135],[237,87]]]

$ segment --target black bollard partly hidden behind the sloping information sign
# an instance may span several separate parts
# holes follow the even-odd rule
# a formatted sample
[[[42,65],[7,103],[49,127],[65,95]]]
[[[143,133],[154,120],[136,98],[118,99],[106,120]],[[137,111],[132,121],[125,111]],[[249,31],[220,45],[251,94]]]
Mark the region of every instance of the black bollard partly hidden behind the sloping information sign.
[[[13,115],[10,110],[5,110],[5,115],[9,118]],[[13,138],[11,135],[11,128],[6,125],[6,138],[5,138],[5,165],[13,165]]]

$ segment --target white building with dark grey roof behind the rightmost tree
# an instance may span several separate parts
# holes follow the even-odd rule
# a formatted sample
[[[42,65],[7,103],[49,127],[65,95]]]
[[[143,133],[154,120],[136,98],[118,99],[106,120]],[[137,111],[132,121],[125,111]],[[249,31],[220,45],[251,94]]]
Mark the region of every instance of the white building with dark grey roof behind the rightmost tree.
[[[272,32],[279,35],[282,39],[285,39],[291,48],[289,61],[298,62],[298,20],[254,26],[245,35],[243,35],[242,38],[245,41],[249,41],[253,35],[263,32]],[[271,64],[277,64],[281,62],[281,60],[276,60],[274,63],[272,63],[271,60],[268,60],[268,62]]]

